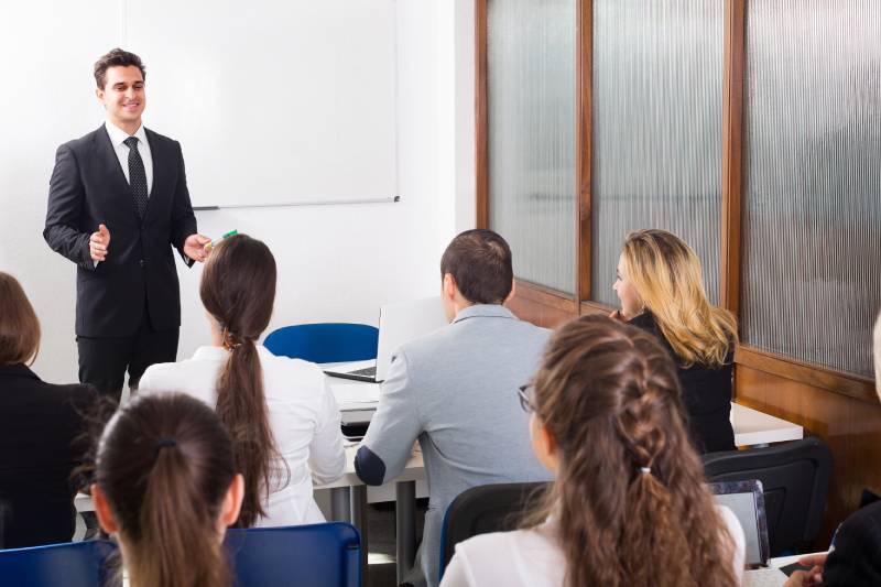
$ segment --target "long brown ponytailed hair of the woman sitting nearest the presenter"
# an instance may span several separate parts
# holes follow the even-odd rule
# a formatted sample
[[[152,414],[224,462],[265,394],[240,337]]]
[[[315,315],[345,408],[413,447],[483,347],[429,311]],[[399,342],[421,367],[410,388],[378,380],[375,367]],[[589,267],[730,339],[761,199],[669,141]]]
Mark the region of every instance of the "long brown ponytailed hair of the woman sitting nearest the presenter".
[[[224,346],[229,350],[217,381],[217,415],[232,436],[236,467],[244,475],[238,525],[249,528],[265,514],[263,501],[275,477],[272,461],[280,456],[255,344],[269,325],[275,301],[272,252],[247,235],[224,239],[205,263],[199,295],[224,329]]]

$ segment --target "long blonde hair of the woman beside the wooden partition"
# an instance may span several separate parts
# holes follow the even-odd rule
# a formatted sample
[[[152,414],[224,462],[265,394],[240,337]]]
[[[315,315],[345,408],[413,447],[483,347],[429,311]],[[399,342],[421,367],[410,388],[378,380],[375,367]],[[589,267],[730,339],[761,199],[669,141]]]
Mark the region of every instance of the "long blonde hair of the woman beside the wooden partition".
[[[624,240],[628,279],[684,366],[719,367],[737,343],[737,320],[710,305],[700,260],[665,230],[638,230]]]

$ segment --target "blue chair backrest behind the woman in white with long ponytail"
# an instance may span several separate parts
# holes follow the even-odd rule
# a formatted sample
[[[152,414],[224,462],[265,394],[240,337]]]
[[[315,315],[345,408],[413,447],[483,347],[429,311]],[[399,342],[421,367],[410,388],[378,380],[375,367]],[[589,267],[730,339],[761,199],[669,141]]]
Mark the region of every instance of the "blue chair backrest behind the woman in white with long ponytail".
[[[330,522],[227,530],[236,585],[358,587],[361,539],[350,524]]]

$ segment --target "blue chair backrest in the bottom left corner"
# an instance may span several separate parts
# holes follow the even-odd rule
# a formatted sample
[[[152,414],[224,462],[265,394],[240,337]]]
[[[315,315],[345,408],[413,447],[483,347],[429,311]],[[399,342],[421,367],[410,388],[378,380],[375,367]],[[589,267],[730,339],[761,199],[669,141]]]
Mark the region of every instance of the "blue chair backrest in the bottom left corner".
[[[117,546],[105,540],[0,551],[0,584],[17,587],[106,587],[116,576]]]

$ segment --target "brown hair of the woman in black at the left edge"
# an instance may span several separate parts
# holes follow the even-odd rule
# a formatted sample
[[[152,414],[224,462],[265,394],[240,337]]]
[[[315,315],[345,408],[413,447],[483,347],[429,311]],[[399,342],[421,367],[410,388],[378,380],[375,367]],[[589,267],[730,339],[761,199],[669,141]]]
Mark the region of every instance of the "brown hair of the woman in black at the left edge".
[[[40,320],[19,281],[0,271],[0,365],[18,365],[36,358]]]

